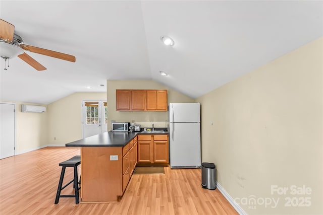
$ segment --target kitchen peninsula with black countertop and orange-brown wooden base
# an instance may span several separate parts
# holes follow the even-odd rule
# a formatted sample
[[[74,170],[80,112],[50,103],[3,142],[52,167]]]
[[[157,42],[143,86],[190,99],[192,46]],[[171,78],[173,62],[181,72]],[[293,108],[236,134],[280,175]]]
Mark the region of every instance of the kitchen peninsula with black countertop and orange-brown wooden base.
[[[138,160],[138,134],[109,131],[66,144],[81,147],[81,203],[117,202],[123,195]]]

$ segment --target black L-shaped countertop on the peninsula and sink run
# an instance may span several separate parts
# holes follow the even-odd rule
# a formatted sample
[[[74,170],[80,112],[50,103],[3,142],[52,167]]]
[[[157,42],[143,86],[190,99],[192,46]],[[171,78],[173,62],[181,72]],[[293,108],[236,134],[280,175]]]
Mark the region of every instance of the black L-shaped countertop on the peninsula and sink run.
[[[168,134],[165,133],[140,133],[140,132],[104,132],[84,139],[79,139],[66,144],[66,147],[124,147],[137,134]]]

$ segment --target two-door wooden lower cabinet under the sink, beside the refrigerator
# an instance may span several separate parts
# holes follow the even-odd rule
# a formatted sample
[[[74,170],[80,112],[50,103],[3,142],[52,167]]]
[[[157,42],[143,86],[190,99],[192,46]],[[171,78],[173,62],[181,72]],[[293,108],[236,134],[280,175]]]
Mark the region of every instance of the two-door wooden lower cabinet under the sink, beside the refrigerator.
[[[169,163],[168,134],[138,135],[138,164]]]

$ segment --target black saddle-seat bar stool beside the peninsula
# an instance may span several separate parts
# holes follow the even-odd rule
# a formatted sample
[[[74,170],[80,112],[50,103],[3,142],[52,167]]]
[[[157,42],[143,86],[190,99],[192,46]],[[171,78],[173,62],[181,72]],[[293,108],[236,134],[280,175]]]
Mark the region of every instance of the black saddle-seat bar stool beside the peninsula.
[[[57,194],[56,194],[56,199],[55,199],[55,204],[59,203],[60,197],[75,197],[75,203],[78,204],[80,202],[79,200],[79,184],[81,182],[78,182],[78,175],[77,175],[77,166],[81,164],[81,156],[74,156],[73,158],[70,158],[67,161],[64,161],[60,163],[60,166],[62,167],[62,172],[61,172],[61,177],[60,177],[60,182],[59,186],[57,188]],[[64,174],[65,174],[65,169],[66,167],[73,167],[74,168],[74,178],[67,184],[63,185],[63,179],[64,179]],[[67,187],[69,184],[73,183],[73,188],[75,189],[75,195],[61,195],[61,191]]]

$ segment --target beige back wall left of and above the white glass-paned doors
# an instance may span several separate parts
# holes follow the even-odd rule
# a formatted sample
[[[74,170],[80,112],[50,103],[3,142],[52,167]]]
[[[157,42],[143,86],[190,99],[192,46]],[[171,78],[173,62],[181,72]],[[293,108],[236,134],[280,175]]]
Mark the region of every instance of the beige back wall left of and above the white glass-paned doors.
[[[73,93],[48,105],[48,144],[65,145],[82,138],[82,100],[87,99],[106,100],[106,93]]]

